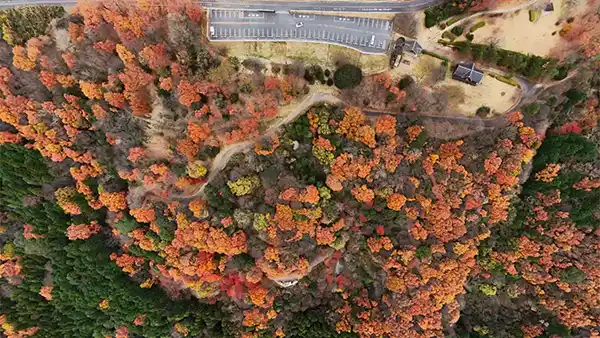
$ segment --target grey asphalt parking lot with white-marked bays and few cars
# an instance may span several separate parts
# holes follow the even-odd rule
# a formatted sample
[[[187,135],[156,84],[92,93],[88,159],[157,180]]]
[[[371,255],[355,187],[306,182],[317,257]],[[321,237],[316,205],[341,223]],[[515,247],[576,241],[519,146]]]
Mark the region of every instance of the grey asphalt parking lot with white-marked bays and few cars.
[[[368,54],[385,54],[392,33],[382,19],[218,9],[209,11],[208,26],[212,41],[321,42]]]

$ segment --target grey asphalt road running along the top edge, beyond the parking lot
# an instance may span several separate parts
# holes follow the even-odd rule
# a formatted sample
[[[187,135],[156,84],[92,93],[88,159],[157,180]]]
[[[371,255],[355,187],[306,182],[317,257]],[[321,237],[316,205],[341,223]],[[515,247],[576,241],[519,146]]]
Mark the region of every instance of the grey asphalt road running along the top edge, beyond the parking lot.
[[[200,0],[206,8],[275,10],[287,11],[325,11],[325,12],[413,12],[442,3],[445,0],[413,0],[413,1],[247,1],[247,0]],[[26,5],[64,5],[73,6],[76,0],[1,0],[0,8]]]

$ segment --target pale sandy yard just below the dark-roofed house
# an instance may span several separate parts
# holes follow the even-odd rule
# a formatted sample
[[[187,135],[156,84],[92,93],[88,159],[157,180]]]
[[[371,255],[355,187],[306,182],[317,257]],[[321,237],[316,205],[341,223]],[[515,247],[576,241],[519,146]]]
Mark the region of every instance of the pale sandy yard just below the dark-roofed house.
[[[519,88],[489,76],[477,86],[447,79],[433,88],[446,91],[450,110],[465,116],[474,115],[481,106],[490,107],[492,115],[503,114],[518,100],[520,94]]]

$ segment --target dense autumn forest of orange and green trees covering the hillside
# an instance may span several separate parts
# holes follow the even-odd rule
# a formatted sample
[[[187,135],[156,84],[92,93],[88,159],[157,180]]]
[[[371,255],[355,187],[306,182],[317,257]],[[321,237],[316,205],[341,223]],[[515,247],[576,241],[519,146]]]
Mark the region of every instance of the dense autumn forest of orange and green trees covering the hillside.
[[[442,139],[280,109],[306,80],[220,54],[194,2],[27,10],[48,27],[0,41],[3,335],[599,336],[587,94],[546,137],[512,112]]]

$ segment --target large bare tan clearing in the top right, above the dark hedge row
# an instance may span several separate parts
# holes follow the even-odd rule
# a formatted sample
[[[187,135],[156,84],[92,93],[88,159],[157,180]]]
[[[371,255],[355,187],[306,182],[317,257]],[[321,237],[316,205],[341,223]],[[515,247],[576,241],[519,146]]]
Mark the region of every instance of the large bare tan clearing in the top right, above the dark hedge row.
[[[532,8],[540,8],[545,3],[540,1],[539,5],[534,5]],[[478,17],[471,24],[485,21],[486,25],[473,33],[475,35],[473,42],[482,44],[495,42],[500,48],[547,56],[552,48],[561,42],[558,34],[560,26],[555,26],[555,23],[561,19],[563,1],[554,0],[553,3],[555,11],[542,12],[536,22],[529,21],[527,9],[496,18]],[[465,27],[468,29],[470,25]],[[553,32],[556,33],[552,35]]]

